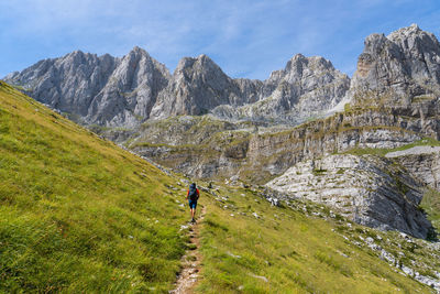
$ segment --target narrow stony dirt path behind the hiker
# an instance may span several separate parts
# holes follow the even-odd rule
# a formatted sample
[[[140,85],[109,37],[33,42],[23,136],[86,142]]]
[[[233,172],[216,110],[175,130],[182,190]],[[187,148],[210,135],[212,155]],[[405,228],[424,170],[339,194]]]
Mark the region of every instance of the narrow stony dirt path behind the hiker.
[[[198,281],[199,272],[200,272],[200,262],[201,254],[199,252],[200,248],[200,224],[204,221],[204,217],[206,214],[206,207],[201,208],[200,217],[197,218],[197,222],[195,225],[190,225],[189,233],[190,239],[189,242],[193,244],[190,249],[188,249],[185,255],[182,258],[184,269],[177,277],[176,287],[169,293],[173,294],[187,294],[194,293],[193,290]]]

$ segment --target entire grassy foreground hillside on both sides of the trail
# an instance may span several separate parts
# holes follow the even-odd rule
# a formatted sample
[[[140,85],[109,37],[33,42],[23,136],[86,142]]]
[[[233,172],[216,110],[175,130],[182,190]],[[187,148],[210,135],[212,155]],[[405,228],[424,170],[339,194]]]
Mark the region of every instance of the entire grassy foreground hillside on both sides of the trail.
[[[0,130],[0,292],[168,293],[194,259],[196,293],[439,288],[435,243],[309,202],[272,205],[257,188],[198,182],[206,215],[194,229],[190,178],[2,81]]]

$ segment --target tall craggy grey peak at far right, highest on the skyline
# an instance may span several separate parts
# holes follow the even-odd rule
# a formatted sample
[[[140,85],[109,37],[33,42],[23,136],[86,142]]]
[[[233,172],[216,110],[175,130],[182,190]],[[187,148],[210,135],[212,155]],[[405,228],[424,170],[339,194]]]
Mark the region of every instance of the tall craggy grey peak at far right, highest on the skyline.
[[[349,94],[358,104],[407,106],[440,96],[440,43],[416,24],[372,34],[359,56]]]

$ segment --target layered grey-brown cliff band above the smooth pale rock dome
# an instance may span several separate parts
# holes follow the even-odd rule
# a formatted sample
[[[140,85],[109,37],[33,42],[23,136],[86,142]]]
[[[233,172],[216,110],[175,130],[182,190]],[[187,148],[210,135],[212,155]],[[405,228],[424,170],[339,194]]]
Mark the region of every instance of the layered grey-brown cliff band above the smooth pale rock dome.
[[[419,120],[369,110],[336,115],[278,133],[255,134],[250,139],[248,165],[240,174],[260,182],[284,173],[298,162],[322,155],[352,149],[399,148],[425,135],[419,124]]]

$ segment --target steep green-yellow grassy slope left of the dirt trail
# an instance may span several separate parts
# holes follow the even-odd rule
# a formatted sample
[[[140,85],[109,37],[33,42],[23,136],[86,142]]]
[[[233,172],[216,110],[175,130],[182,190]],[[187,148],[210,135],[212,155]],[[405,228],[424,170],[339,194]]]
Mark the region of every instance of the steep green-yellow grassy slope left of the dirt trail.
[[[0,292],[172,287],[172,178],[3,83],[0,154]]]

